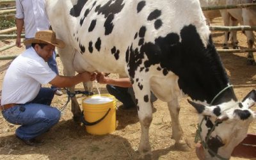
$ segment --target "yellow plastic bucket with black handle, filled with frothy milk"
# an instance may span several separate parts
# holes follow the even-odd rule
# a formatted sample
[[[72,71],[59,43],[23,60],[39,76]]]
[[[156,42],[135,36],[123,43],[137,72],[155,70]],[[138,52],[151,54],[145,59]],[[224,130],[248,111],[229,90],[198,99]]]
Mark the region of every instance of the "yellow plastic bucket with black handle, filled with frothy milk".
[[[102,97],[102,100],[100,97]],[[108,134],[116,130],[116,100],[110,94],[92,95],[83,99],[83,124],[90,134]]]

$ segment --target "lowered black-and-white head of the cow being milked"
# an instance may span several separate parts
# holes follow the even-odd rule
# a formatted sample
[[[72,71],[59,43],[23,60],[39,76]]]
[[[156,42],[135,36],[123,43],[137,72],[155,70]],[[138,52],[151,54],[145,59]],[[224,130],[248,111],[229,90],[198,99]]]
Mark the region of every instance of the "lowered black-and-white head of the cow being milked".
[[[246,137],[256,113],[250,107],[256,101],[256,91],[248,93],[242,102],[204,106],[189,100],[200,118],[196,139],[204,147],[202,159],[229,159],[234,148]]]

